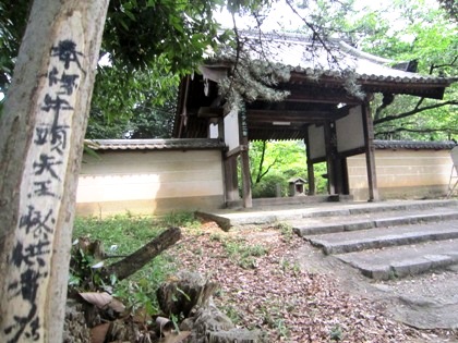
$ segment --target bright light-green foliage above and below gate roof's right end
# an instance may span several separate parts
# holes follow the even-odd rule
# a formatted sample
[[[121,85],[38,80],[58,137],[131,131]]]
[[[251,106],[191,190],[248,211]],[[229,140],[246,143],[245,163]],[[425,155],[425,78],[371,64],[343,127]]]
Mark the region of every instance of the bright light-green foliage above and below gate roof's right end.
[[[441,1],[453,15],[451,2]],[[458,74],[458,27],[437,2],[396,0],[382,5],[372,2],[332,1],[306,3],[310,25],[323,36],[342,37],[364,51],[397,62],[417,61],[418,71],[435,76]],[[453,17],[453,16],[451,16]],[[310,28],[309,25],[309,28]],[[458,84],[446,90],[444,101],[396,96],[395,101],[372,110],[375,136],[379,139],[443,140],[458,134]],[[443,105],[442,105],[443,103]],[[402,114],[399,117],[399,114]],[[379,122],[379,119],[389,121]]]

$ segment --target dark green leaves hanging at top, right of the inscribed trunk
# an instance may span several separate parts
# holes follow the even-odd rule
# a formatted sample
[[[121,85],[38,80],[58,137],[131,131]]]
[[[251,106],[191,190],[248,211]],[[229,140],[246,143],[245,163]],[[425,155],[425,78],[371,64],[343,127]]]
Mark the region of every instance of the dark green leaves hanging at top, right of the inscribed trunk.
[[[171,0],[110,1],[103,48],[131,69],[152,68],[164,59],[173,74],[193,70],[208,47],[216,47],[219,25],[213,11],[222,2]]]

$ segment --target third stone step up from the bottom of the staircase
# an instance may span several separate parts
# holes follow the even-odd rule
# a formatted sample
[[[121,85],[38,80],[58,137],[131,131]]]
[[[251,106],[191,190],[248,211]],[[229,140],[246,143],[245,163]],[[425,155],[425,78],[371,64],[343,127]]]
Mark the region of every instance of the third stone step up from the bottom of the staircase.
[[[437,207],[417,211],[382,211],[365,215],[339,216],[327,218],[312,218],[308,220],[293,220],[288,223],[300,236],[336,233],[343,231],[367,230],[373,228],[387,228],[396,225],[419,224],[458,220],[458,209],[451,207]]]

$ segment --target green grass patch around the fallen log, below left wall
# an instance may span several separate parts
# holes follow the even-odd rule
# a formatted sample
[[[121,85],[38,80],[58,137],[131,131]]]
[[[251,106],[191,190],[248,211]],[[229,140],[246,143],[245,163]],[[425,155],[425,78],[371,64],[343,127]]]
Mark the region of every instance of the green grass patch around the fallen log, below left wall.
[[[75,218],[73,237],[99,240],[107,255],[128,256],[158,236],[169,226],[197,228],[193,213],[170,213],[162,218],[118,215],[108,218]],[[116,261],[108,258],[106,264]],[[159,311],[156,290],[169,275],[177,272],[173,258],[162,252],[135,274],[121,282],[114,282],[114,295],[133,310],[142,308],[148,314]]]

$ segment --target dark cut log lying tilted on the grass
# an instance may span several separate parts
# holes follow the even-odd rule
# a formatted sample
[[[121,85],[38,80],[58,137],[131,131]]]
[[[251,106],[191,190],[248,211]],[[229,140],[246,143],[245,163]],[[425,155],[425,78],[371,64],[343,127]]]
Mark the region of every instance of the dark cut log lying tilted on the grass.
[[[116,264],[108,266],[103,270],[103,277],[107,278],[110,274],[114,274],[119,280],[124,280],[141,269],[143,266],[145,266],[147,262],[149,262],[161,252],[172,246],[180,238],[180,229],[170,228],[133,254],[119,260]]]

